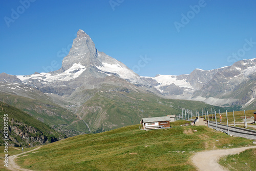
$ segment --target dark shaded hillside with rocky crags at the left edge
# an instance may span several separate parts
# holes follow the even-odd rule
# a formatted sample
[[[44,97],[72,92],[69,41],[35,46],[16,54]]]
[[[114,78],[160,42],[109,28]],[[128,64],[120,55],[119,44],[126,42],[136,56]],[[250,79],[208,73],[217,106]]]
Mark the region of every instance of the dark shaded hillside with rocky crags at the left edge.
[[[4,115],[8,115],[9,144],[15,146],[31,146],[45,144],[64,139],[65,135],[51,129],[48,125],[33,116],[0,102],[0,134],[4,135]],[[1,136],[0,145],[3,145]]]

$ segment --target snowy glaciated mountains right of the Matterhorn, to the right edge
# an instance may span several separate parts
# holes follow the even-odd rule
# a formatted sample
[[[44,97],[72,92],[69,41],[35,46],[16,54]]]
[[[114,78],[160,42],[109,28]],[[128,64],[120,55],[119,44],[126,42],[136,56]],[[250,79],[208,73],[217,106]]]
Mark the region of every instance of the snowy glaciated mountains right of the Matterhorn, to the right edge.
[[[256,58],[213,70],[195,69],[189,75],[157,75],[143,77],[143,80],[172,99],[246,108],[250,105],[256,106],[255,76]]]

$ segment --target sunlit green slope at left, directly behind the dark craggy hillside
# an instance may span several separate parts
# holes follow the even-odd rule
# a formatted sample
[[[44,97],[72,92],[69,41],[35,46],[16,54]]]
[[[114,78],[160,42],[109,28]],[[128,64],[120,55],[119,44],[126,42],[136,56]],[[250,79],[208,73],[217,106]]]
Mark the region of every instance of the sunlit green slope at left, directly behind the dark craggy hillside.
[[[62,132],[67,136],[89,133],[87,126],[82,120],[79,120],[74,113],[56,105],[50,100],[42,99],[44,98],[31,99],[0,92],[1,102],[12,105],[32,115],[34,118],[41,120],[56,131]]]

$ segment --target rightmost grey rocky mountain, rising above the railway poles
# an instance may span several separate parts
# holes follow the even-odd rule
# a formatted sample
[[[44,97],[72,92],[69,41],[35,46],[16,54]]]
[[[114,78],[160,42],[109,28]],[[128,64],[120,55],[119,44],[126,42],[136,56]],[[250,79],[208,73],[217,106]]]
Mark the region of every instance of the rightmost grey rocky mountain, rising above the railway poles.
[[[193,98],[214,97],[225,100],[227,105],[256,106],[255,77],[256,59],[238,61],[217,72],[199,91],[194,92]]]

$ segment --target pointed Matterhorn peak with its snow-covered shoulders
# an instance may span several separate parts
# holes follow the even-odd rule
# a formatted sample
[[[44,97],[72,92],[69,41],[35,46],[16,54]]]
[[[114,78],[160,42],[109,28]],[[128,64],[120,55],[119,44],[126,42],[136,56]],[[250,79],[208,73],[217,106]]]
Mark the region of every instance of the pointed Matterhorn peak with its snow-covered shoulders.
[[[150,85],[122,62],[99,52],[91,37],[86,32],[78,30],[70,52],[62,60],[62,66],[59,70],[16,77],[35,87],[72,85],[73,88],[76,88],[85,84],[85,80],[90,82],[92,78],[109,76],[116,76],[139,86]],[[71,82],[76,83],[71,84]]]

